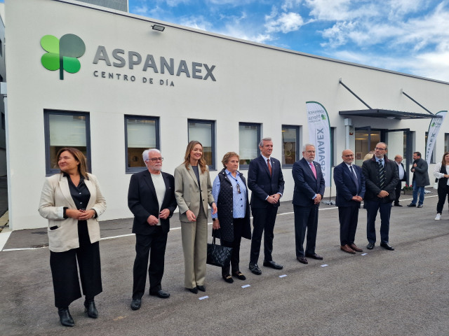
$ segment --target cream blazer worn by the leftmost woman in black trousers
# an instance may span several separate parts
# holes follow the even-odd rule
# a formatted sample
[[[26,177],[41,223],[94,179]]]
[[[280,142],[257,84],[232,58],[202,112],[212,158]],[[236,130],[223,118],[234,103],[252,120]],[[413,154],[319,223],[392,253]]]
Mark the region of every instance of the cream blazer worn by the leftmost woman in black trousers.
[[[106,201],[100,191],[97,178],[88,174],[85,179],[91,199],[86,209],[94,209],[100,216],[106,210]],[[41,201],[39,202],[39,214],[48,219],[48,244],[50,251],[64,252],[72,248],[79,248],[78,220],[75,218],[64,218],[64,207],[76,209],[69,190],[69,181],[63,174],[55,174],[46,179],[43,184]],[[98,217],[97,216],[97,217]],[[50,230],[57,226],[58,228]],[[87,228],[91,243],[100,240],[100,225],[97,218],[87,220]]]

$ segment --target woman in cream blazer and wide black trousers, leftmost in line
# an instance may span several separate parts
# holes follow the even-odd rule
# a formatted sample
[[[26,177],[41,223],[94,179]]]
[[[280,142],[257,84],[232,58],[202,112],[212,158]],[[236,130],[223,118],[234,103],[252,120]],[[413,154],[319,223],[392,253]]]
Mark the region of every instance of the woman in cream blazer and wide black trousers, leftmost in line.
[[[97,178],[87,172],[81,151],[62,148],[56,158],[61,172],[46,179],[39,214],[48,219],[55,306],[61,324],[72,327],[69,304],[81,297],[79,278],[86,295],[85,312],[91,318],[98,317],[94,297],[102,292],[102,283],[97,218],[105,211],[106,202]]]

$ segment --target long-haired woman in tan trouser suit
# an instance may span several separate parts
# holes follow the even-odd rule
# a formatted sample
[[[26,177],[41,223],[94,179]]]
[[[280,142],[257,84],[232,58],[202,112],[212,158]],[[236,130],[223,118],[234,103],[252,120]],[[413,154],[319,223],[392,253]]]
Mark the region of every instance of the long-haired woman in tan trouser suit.
[[[209,169],[199,141],[190,141],[184,162],[175,169],[175,197],[180,210],[185,288],[206,291],[208,204],[217,212],[212,196]]]

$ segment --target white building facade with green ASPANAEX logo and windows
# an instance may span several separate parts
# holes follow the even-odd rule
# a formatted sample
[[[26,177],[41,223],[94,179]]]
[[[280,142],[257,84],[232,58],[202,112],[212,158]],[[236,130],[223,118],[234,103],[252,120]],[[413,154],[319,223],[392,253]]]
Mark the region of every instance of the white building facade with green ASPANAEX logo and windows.
[[[449,83],[119,10],[68,0],[6,0],[5,9],[13,230],[47,225],[37,212],[39,197],[45,177],[58,172],[55,154],[63,146],[86,153],[107,200],[102,220],[128,218],[128,183],[133,172],[145,169],[145,148],[159,148],[163,170],[173,174],[189,140],[199,140],[214,179],[228,151],[240,153],[246,174],[259,139],[272,137],[286,181],[281,200],[288,201],[291,166],[309,139],[306,102],[319,102],[328,112],[333,165],[347,146],[361,164],[378,141],[387,142],[391,158],[406,155],[410,165],[413,151],[425,153],[431,121],[418,116],[431,115],[409,97],[431,113],[449,105]],[[375,118],[375,111],[383,118]],[[434,162],[448,150],[445,119]]]

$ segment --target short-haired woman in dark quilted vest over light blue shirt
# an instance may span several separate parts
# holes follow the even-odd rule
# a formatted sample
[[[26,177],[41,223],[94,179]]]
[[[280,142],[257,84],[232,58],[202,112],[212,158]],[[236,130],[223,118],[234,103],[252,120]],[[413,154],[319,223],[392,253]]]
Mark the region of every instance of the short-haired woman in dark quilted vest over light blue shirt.
[[[217,200],[217,213],[212,214],[215,237],[220,238],[222,246],[232,247],[230,266],[222,267],[222,278],[233,283],[232,276],[246,280],[240,272],[241,238],[251,239],[250,204],[248,189],[243,174],[239,172],[239,155],[228,152],[223,156],[223,169],[213,181],[212,195]],[[231,275],[232,274],[232,275]]]

